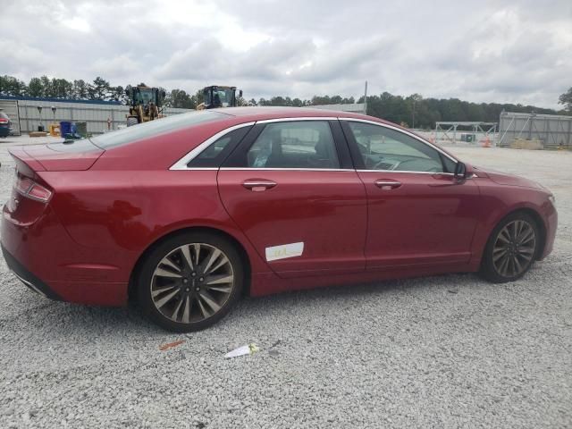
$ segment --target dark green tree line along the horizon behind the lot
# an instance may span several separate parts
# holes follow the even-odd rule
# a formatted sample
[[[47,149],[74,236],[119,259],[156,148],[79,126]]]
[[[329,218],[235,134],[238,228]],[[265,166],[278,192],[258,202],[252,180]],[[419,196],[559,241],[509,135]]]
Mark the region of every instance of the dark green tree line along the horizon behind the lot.
[[[139,85],[144,85],[140,83]],[[159,88],[164,90],[164,88]],[[187,93],[182,89],[165,91],[164,105],[195,109],[202,103],[202,93]],[[32,78],[28,83],[13,76],[0,76],[0,96],[12,97],[44,97],[66,98],[76,100],[105,100],[128,103],[125,88],[114,87],[110,83],[97,77],[92,81],[49,79],[46,76]],[[337,105],[363,103],[364,97],[357,100],[354,97],[341,96],[315,96],[310,99],[271,97],[269,99],[244,98],[239,100],[240,105],[277,105],[277,106],[310,106],[310,105]],[[408,97],[392,95],[389,92],[367,97],[367,114],[397,122],[409,127],[433,129],[435,122],[440,121],[479,121],[498,122],[499,115],[506,112],[536,113],[536,114],[571,114],[572,88],[559,97],[559,103],[565,110],[556,111],[534,105],[514,105],[501,103],[472,103],[458,98],[437,99],[424,98],[419,94]]]

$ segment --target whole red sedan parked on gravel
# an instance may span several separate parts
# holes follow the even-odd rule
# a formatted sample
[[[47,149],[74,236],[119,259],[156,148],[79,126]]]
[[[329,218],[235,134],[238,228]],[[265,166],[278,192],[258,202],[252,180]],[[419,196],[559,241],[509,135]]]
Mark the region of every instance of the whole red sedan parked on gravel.
[[[175,115],[11,150],[2,249],[51,299],[193,331],[241,293],[452,272],[514,281],[552,249],[551,192],[390,122],[306,108]]]

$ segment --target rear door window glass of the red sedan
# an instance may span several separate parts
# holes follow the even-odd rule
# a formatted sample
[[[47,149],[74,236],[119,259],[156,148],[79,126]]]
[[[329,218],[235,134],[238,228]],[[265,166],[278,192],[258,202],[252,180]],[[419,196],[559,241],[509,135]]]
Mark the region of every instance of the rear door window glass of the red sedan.
[[[325,121],[269,123],[248,149],[249,168],[340,168]]]

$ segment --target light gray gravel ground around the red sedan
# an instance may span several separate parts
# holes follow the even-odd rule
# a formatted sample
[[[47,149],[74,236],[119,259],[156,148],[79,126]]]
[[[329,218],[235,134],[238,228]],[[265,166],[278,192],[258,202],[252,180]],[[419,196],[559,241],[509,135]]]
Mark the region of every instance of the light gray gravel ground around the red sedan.
[[[3,141],[0,201],[13,175]],[[2,260],[0,427],[572,426],[572,153],[450,149],[555,193],[554,252],[524,279],[245,299],[184,336],[129,309],[41,299]],[[248,342],[261,350],[223,357]]]

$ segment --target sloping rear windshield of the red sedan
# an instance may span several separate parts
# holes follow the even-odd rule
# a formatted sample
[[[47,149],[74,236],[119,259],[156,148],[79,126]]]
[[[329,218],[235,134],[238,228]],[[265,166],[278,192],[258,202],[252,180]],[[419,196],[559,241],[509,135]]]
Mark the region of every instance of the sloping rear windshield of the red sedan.
[[[157,119],[155,121],[139,123],[132,127],[106,132],[91,139],[91,142],[97,147],[108,149],[110,147],[118,147],[127,145],[142,139],[149,139],[160,134],[181,130],[191,125],[199,123],[211,122],[222,119],[225,115],[217,114],[212,111],[189,112],[188,114],[174,114],[167,118]]]

